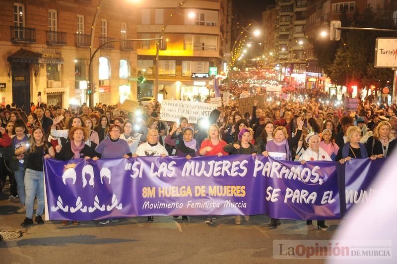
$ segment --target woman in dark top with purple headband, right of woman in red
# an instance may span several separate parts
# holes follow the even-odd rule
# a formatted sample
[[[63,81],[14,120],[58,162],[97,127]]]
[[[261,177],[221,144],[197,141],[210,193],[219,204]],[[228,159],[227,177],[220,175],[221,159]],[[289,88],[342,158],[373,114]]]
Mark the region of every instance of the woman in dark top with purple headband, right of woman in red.
[[[247,122],[247,120],[244,120]],[[230,155],[241,155],[241,154],[249,154],[249,155],[257,155],[258,148],[251,144],[251,132],[247,128],[241,129],[238,135],[238,141],[235,143],[227,144],[223,147],[223,150]],[[245,220],[248,221],[250,219],[249,215],[244,216]],[[236,215],[234,218],[235,224],[241,224],[241,216]]]

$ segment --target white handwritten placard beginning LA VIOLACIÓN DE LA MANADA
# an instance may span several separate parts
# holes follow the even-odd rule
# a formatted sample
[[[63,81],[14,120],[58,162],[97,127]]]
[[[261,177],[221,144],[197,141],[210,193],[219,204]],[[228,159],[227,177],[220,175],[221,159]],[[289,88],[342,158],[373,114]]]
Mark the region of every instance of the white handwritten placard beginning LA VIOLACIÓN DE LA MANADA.
[[[197,120],[201,117],[208,118],[209,113],[216,109],[215,105],[178,101],[178,100],[163,100],[161,103],[160,119],[164,121],[176,122],[181,117],[186,117],[189,123],[197,124]]]

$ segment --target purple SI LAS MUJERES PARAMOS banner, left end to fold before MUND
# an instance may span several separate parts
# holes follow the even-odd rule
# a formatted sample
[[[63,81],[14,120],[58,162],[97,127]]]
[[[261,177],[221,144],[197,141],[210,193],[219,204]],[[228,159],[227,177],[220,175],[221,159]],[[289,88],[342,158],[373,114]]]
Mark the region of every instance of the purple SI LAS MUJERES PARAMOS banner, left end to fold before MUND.
[[[46,219],[155,215],[340,218],[333,162],[250,155],[45,159]]]

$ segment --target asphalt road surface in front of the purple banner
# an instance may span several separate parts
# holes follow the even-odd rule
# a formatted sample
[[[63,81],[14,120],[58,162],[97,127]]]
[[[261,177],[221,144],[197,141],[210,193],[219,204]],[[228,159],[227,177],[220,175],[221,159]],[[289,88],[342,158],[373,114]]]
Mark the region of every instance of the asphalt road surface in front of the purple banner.
[[[18,230],[22,237],[0,241],[0,264],[90,264],[90,263],[178,263],[178,264],[271,264],[324,263],[324,260],[273,258],[273,241],[329,240],[339,220],[327,220],[327,231],[318,230],[316,221],[281,220],[276,229],[267,227],[269,218],[253,215],[234,224],[234,216],[214,216],[213,225],[205,216],[156,216],[120,219],[108,225],[84,221],[62,226],[45,221],[28,228],[20,226],[24,213],[16,213],[19,200],[8,201],[9,191],[0,194],[0,231]],[[44,217],[43,217],[44,218]]]

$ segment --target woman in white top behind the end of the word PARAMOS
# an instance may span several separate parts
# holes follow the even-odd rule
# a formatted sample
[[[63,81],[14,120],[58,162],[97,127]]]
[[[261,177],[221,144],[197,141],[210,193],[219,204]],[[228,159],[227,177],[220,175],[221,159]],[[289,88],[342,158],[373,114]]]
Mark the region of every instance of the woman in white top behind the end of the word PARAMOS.
[[[332,161],[331,157],[328,153],[320,148],[320,137],[318,134],[310,134],[306,138],[306,143],[309,145],[309,148],[305,150],[305,152],[300,156],[299,161],[302,164],[306,163],[307,161],[313,160],[325,160],[325,161]],[[306,221],[307,225],[312,225],[312,220]],[[327,230],[328,226],[326,225],[325,220],[317,220],[317,228],[320,230]]]

